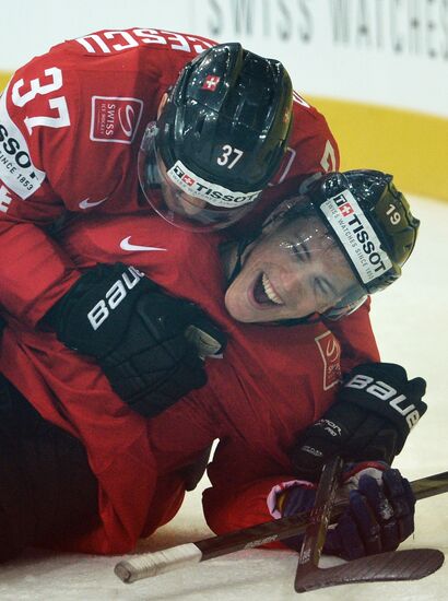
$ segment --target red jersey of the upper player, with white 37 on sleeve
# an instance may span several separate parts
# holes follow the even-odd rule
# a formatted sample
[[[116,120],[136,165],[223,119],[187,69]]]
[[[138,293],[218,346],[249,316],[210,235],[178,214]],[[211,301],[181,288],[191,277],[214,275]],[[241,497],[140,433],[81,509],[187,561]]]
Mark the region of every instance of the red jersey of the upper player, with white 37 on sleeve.
[[[211,45],[151,28],[102,31],[13,75],[0,97],[0,305],[10,315],[35,325],[79,278],[44,226],[67,211],[150,211],[137,174],[144,128],[184,64]],[[290,148],[264,203],[339,168],[323,117],[294,98]]]

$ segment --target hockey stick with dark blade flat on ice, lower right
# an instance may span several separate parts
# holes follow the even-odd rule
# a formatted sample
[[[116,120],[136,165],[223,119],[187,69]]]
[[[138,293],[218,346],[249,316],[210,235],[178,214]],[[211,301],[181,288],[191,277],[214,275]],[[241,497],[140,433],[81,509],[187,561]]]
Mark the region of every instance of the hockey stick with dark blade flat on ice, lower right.
[[[294,588],[296,592],[353,582],[416,580],[436,571],[444,563],[437,549],[391,551],[361,557],[343,565],[319,568],[319,559],[331,516],[342,462],[329,462],[322,471],[298,557]]]

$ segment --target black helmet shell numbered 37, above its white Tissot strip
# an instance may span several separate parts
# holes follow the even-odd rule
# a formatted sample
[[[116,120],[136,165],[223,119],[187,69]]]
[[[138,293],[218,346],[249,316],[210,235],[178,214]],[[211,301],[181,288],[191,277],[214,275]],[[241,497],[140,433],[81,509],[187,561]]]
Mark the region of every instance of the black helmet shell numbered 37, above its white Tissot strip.
[[[167,169],[239,192],[262,190],[286,150],[292,84],[281,62],[240,44],[214,46],[181,71],[157,120]]]

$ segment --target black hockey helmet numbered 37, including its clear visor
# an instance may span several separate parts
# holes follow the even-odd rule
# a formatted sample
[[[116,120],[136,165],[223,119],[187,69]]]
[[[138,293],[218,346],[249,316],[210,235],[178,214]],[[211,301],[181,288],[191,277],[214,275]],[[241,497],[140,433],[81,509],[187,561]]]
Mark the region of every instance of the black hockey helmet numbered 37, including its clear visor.
[[[209,228],[235,222],[278,170],[291,125],[292,84],[281,62],[237,43],[205,50],[182,69],[143,138],[139,175],[148,200],[154,203],[160,178],[156,153],[170,182],[205,204],[188,217]],[[173,211],[154,208],[176,223]]]

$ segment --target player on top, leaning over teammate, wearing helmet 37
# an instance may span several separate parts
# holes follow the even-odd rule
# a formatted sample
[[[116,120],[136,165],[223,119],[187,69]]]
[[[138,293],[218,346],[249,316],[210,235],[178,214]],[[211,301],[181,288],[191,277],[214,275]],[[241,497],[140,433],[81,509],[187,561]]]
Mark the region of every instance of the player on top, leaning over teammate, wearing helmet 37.
[[[0,305],[36,327],[76,285],[80,271],[48,235],[68,214],[155,210],[219,229],[338,166],[323,117],[276,60],[144,28],[64,42],[19,69],[0,98]]]

